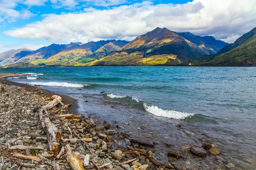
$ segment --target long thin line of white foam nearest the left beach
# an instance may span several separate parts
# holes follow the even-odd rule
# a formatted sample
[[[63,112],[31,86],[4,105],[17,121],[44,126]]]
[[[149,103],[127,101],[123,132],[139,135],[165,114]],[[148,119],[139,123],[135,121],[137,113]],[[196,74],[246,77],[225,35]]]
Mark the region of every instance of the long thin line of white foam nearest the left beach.
[[[89,86],[90,84],[78,84],[78,83],[68,83],[68,82],[25,82],[32,85],[46,85],[46,86],[58,86],[58,87],[71,87],[71,88],[83,88],[84,86]]]

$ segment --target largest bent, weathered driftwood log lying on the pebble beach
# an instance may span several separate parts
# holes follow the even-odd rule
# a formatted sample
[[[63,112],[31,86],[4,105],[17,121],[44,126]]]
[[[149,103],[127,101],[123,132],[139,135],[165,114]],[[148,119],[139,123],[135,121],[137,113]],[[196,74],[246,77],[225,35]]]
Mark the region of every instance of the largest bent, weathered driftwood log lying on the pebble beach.
[[[61,101],[60,96],[52,96],[52,102],[49,102],[43,108],[39,110],[39,118],[41,121],[41,125],[44,128],[44,131],[47,135],[49,150],[52,151],[54,156],[57,156],[60,150],[59,141],[61,139],[61,133],[57,129],[57,127],[50,121],[48,111],[54,108]]]

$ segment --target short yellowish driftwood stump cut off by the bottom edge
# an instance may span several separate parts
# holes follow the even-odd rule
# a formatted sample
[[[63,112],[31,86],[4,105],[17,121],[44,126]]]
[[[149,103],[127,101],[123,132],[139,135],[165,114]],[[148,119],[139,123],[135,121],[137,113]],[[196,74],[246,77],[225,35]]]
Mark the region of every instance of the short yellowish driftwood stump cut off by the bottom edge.
[[[85,170],[83,167],[83,162],[81,161],[81,159],[79,159],[76,156],[76,153],[71,154],[71,148],[70,145],[66,145],[65,146],[67,153],[66,153],[66,157],[67,157],[67,161],[70,164],[70,166],[72,167],[73,170]]]

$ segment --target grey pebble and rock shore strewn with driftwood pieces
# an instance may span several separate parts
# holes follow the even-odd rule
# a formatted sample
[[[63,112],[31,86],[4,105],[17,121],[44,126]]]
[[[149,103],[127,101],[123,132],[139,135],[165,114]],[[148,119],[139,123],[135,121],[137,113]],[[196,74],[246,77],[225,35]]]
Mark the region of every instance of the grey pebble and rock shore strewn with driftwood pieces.
[[[71,117],[65,116],[67,113],[73,113],[70,108],[75,108],[76,105],[63,107],[59,104],[58,107],[48,111],[52,123],[61,132],[59,142],[61,150],[64,151],[60,151],[60,157],[56,158],[49,151],[46,133],[38,116],[39,109],[51,102],[51,99],[47,97],[56,95],[56,93],[6,79],[0,81],[0,92],[0,153],[3,160],[0,169],[18,170],[21,167],[23,169],[30,167],[31,170],[36,168],[41,168],[40,170],[72,168],[80,170],[74,169],[72,162],[69,161],[70,157],[66,158],[64,155],[64,153],[66,155],[69,153],[66,147],[71,147],[74,151],[71,157],[77,161],[82,162],[85,155],[89,155],[92,163],[89,162],[87,166],[83,165],[81,170],[99,170],[99,167],[107,170],[154,170],[160,166],[166,167],[154,159],[154,150],[152,153],[150,147],[136,148],[143,144],[131,145],[128,139],[124,140],[121,137],[114,140],[122,132],[111,125],[106,123],[102,125],[90,116],[84,118],[79,115],[75,116],[75,114]],[[70,96],[60,96],[64,97],[65,104],[73,100]],[[9,119],[6,119],[6,116]],[[126,142],[127,147],[123,147],[122,142]],[[26,152],[22,151],[22,147],[28,148]],[[133,153],[134,151],[136,154]],[[167,166],[179,167],[177,164]]]

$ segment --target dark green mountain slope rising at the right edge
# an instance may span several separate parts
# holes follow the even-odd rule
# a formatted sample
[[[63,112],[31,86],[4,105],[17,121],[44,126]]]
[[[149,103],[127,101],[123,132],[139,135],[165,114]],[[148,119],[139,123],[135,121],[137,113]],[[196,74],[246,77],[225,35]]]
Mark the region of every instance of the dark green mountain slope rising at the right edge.
[[[202,66],[256,66],[256,28],[233,44],[226,45],[217,54],[186,62],[184,65],[188,63]]]

